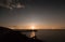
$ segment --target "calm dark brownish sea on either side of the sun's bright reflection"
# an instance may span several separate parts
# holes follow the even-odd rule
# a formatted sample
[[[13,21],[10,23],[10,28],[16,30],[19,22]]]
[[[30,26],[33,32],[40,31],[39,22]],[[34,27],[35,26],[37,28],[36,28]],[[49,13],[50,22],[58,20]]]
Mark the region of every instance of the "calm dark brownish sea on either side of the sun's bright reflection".
[[[30,32],[26,32],[26,34],[29,36]],[[38,30],[36,32],[36,36],[38,39],[46,41],[46,42],[65,42],[65,29]]]

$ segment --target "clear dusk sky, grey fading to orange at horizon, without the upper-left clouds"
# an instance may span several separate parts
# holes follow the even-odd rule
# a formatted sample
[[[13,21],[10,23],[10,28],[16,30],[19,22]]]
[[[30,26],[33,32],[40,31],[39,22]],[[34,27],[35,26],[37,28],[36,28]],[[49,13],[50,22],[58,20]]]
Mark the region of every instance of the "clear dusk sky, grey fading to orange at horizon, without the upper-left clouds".
[[[0,26],[13,28],[65,29],[64,0],[24,0],[23,9],[0,6]]]

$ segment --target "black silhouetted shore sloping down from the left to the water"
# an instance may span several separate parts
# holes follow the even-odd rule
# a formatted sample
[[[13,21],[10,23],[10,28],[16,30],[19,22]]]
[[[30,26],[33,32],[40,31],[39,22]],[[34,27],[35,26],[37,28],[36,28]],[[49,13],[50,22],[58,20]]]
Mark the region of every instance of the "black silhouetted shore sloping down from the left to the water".
[[[38,39],[27,38],[25,34],[12,29],[0,27],[0,42],[42,42]]]

